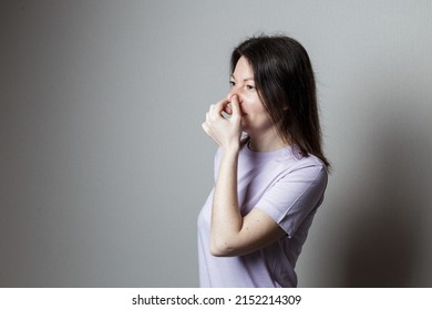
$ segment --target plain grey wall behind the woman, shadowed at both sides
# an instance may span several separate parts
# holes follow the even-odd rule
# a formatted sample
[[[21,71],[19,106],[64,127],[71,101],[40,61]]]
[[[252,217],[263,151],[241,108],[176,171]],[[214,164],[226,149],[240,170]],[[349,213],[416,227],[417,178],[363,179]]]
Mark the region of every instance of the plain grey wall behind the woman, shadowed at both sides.
[[[308,50],[333,170],[300,287],[432,287],[432,3],[1,1],[0,286],[197,287],[232,49]]]

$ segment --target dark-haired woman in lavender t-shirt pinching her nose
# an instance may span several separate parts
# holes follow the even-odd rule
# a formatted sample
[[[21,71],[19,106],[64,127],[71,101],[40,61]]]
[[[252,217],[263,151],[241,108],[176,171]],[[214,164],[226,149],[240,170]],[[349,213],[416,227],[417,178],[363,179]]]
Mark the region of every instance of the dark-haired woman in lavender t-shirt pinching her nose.
[[[329,167],[312,68],[288,37],[248,39],[230,64],[232,90],[203,123],[219,148],[198,216],[200,286],[296,287]]]

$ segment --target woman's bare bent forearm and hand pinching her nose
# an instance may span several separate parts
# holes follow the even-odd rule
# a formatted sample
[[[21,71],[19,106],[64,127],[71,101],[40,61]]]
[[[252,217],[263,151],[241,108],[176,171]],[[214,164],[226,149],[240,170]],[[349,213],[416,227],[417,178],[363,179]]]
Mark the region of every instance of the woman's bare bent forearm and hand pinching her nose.
[[[241,217],[237,197],[240,111],[237,97],[232,99],[232,117],[226,120],[226,100],[207,113],[204,131],[222,147],[210,221],[210,251],[214,256],[240,256],[263,248],[285,235],[264,211],[254,208]]]

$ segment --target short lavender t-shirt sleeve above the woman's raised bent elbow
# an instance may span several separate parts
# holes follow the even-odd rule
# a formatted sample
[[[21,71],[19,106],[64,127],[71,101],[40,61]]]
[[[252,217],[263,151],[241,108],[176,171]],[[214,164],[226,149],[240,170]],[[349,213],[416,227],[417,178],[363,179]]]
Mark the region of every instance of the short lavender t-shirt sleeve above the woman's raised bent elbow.
[[[279,178],[256,207],[269,215],[288,237],[292,237],[304,219],[322,202],[326,186],[327,169],[323,165],[301,165]]]

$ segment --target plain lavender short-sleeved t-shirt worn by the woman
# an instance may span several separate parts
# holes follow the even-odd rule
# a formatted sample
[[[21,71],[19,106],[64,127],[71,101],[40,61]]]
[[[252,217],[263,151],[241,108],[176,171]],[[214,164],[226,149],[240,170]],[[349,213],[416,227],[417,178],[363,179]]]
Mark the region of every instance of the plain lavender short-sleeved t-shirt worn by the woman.
[[[215,179],[220,149],[215,156]],[[243,216],[254,207],[269,215],[287,235],[272,245],[238,257],[209,252],[213,193],[198,216],[200,287],[297,287],[295,266],[327,186],[326,166],[295,147],[253,152],[238,157],[238,203]]]

